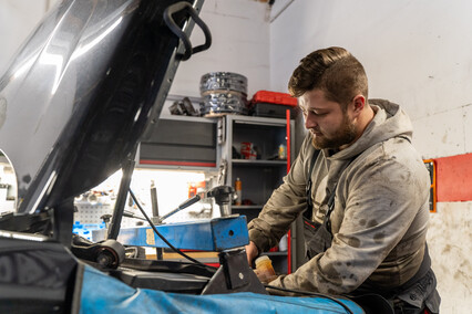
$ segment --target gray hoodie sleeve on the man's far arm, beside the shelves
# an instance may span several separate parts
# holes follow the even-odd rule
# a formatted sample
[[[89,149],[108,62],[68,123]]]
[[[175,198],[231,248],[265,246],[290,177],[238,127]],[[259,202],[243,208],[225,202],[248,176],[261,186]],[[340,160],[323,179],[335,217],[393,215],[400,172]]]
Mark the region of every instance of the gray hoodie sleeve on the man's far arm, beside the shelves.
[[[306,168],[312,150],[310,136],[307,134],[298,157],[284,177],[283,185],[273,192],[258,218],[248,223],[249,240],[256,244],[259,252],[277,245],[289,230],[290,223],[306,209]]]

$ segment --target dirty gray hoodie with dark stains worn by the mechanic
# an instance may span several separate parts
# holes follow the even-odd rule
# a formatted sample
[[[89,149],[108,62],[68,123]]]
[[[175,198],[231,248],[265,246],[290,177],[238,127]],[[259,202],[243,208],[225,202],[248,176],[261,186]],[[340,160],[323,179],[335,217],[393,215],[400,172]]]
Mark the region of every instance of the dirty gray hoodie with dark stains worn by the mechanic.
[[[366,280],[392,289],[418,271],[428,228],[429,174],[411,145],[412,126],[406,113],[388,101],[369,104],[376,115],[362,136],[336,154],[321,150],[311,174],[312,220],[318,222],[325,217],[320,207],[338,181],[331,248],[270,285],[342,294]],[[312,154],[308,134],[284,184],[249,222],[249,239],[259,252],[276,245],[307,208]]]

